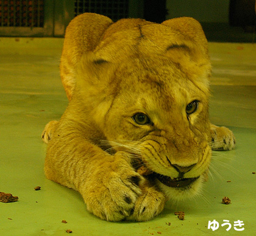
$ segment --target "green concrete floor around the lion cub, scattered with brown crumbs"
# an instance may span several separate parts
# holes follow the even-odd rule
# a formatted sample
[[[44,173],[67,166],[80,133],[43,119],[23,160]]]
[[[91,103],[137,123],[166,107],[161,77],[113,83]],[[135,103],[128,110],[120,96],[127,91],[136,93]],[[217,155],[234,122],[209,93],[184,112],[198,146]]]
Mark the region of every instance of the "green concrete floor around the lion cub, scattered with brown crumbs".
[[[0,38],[0,192],[19,196],[15,203],[0,203],[1,236],[66,235],[66,229],[90,236],[256,234],[255,44],[210,43],[211,119],[233,130],[236,149],[213,153],[202,196],[168,202],[161,215],[143,223],[99,220],[79,193],[44,177],[46,145],[40,134],[67,105],[59,78],[62,44],[56,38]],[[224,196],[232,204],[221,204]],[[184,221],[174,215],[177,210],[185,212]],[[214,232],[207,228],[213,220],[219,222]],[[229,231],[223,220],[232,224]],[[238,220],[244,231],[233,228]]]

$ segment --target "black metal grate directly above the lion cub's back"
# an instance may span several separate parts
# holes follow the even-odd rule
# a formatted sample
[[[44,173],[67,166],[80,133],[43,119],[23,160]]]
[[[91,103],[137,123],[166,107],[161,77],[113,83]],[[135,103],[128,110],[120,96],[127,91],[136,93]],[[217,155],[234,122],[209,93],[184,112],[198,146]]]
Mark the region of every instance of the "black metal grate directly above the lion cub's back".
[[[74,15],[85,12],[108,16],[113,21],[128,17],[129,0],[75,0]]]

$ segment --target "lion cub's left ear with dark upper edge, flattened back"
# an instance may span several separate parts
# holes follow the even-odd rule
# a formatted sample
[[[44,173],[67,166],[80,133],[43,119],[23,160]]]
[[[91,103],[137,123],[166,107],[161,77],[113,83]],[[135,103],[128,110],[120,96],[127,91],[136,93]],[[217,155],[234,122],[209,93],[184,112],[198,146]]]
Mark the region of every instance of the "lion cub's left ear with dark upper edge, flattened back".
[[[96,95],[110,89],[110,80],[113,78],[113,63],[96,57],[93,52],[88,52],[80,59],[77,65],[76,89],[87,95]]]

